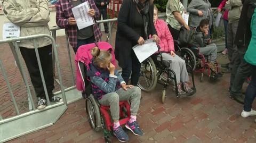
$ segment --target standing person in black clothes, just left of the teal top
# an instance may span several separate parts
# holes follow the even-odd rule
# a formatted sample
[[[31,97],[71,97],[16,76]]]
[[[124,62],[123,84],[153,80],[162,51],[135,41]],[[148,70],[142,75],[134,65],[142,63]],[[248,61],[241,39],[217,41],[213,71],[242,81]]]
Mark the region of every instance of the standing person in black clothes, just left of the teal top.
[[[230,0],[229,0],[230,1]],[[238,22],[237,32],[235,36],[235,44],[237,45],[238,58],[234,65],[233,84],[230,90],[230,97],[235,99],[238,103],[244,103],[242,98],[243,83],[248,75],[250,75],[250,64],[244,60],[245,52],[247,51],[250,39],[252,37],[252,29],[250,24],[252,15],[256,7],[256,0],[245,0],[243,2],[243,9]]]

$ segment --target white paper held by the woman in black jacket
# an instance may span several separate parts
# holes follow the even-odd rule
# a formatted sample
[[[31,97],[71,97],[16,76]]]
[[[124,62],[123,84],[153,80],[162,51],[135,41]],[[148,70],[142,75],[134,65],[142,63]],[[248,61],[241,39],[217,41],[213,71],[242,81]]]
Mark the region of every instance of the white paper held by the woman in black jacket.
[[[153,41],[153,39],[148,39],[145,41],[145,44],[143,45],[135,45],[133,47],[133,51],[135,55],[137,56],[140,63],[142,63],[144,60],[146,60],[149,56],[153,55],[158,51],[156,43]]]

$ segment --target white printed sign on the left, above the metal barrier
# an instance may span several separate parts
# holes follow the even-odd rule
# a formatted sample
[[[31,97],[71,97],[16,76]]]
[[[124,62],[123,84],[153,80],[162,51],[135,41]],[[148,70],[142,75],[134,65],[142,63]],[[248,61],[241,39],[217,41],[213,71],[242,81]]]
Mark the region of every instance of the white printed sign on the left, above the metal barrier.
[[[3,39],[20,37],[20,27],[9,22],[3,25]]]

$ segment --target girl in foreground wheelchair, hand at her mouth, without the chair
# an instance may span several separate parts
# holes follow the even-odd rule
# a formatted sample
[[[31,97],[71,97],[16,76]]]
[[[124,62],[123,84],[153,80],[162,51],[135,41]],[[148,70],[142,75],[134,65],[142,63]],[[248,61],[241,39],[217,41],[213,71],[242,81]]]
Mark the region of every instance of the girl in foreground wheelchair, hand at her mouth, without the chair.
[[[119,101],[129,100],[131,103],[131,117],[125,127],[137,136],[143,132],[139,128],[136,116],[139,110],[141,91],[139,87],[126,85],[121,74],[115,70],[111,61],[111,54],[107,51],[100,51],[94,47],[91,51],[93,56],[89,64],[87,77],[90,77],[92,93],[103,106],[110,106],[112,119],[114,120],[113,132],[121,142],[129,140],[126,132],[119,124]]]

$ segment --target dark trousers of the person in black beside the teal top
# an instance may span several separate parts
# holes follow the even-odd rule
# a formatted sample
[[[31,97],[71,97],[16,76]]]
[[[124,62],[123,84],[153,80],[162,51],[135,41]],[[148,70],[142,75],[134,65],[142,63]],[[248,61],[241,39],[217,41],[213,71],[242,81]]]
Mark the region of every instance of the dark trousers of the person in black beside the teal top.
[[[242,95],[243,83],[246,77],[250,74],[251,66],[244,60],[247,47],[238,48],[238,60],[234,62],[230,75],[231,95]]]

